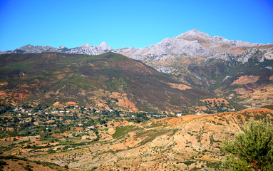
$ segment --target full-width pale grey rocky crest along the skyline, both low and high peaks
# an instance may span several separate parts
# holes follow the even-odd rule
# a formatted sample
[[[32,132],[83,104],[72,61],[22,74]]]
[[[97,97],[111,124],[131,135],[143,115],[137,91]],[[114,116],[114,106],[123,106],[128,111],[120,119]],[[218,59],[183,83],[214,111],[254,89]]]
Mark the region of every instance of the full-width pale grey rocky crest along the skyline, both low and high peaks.
[[[273,58],[273,44],[257,44],[244,41],[229,41],[220,36],[210,36],[198,30],[191,30],[173,38],[164,38],[163,41],[145,48],[119,48],[113,49],[107,43],[91,46],[88,43],[76,48],[66,48],[60,46],[32,46],[26,45],[16,48],[14,51],[4,51],[0,53],[81,53],[88,55],[98,55],[112,51],[121,53],[130,58],[140,61],[152,59],[160,61],[173,56],[200,56],[204,58],[221,58],[223,60],[237,60],[247,62],[249,58],[257,56],[259,61],[264,58]],[[165,70],[163,70],[165,71]]]

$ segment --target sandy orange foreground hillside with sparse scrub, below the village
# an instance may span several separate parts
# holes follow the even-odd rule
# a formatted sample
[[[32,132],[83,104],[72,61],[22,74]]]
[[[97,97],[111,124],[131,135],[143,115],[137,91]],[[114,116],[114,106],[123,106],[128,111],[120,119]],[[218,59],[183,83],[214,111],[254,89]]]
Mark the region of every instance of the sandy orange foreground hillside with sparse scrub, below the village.
[[[93,129],[50,132],[51,139],[43,139],[43,134],[10,136],[1,139],[1,151],[74,170],[217,170],[226,155],[220,150],[221,140],[232,138],[250,119],[261,118],[273,118],[273,110],[185,115],[145,123],[112,120]]]

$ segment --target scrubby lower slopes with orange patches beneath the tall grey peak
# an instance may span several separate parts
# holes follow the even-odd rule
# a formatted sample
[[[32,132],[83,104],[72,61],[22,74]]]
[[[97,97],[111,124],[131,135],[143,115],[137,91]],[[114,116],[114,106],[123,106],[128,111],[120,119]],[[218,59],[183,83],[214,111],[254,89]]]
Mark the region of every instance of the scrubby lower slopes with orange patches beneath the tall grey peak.
[[[273,60],[250,58],[247,63],[192,56],[175,56],[161,61],[145,60],[149,66],[168,68],[173,76],[190,86],[215,92],[245,108],[272,103]]]

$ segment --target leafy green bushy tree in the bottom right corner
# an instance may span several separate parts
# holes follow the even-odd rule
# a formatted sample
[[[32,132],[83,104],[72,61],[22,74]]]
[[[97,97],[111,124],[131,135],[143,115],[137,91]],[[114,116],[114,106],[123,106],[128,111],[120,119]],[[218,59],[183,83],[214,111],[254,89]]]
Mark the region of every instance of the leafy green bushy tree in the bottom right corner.
[[[267,120],[250,120],[231,140],[223,140],[229,152],[222,167],[226,170],[273,170],[273,127]]]

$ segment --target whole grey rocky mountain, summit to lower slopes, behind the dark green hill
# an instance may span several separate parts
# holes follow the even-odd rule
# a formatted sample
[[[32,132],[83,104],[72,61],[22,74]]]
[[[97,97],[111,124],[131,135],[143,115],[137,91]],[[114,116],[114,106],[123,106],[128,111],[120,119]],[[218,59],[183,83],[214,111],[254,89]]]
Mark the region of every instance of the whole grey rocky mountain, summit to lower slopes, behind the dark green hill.
[[[64,46],[53,48],[27,45],[1,53],[43,52],[88,55],[120,53],[140,60],[161,73],[168,73],[178,84],[202,89],[237,103],[240,106],[238,108],[259,108],[270,105],[273,100],[272,43],[264,45],[229,41],[220,36],[191,30],[174,38],[165,38],[146,48],[113,49],[103,42],[98,46],[84,44],[71,49]],[[12,73],[14,76],[20,74]],[[235,105],[232,103],[232,106]],[[203,112],[210,110],[202,105]],[[220,109],[216,111],[219,112]]]

